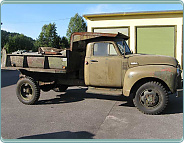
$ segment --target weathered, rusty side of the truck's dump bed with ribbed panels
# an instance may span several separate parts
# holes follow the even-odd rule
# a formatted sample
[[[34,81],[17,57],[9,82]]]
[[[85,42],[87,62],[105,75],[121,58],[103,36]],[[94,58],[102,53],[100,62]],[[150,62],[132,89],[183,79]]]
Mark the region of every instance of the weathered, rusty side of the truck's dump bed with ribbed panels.
[[[2,69],[26,69],[28,71],[40,71],[51,73],[63,73],[67,68],[66,54],[63,55],[40,55],[40,54],[6,54],[2,50]],[[50,70],[47,70],[50,69]]]

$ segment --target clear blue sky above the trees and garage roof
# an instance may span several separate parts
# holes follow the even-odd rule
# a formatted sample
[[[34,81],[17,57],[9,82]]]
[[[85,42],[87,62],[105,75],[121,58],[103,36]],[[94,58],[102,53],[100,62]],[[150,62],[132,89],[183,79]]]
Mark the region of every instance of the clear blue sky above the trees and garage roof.
[[[3,4],[2,30],[38,38],[44,24],[56,23],[58,35],[66,36],[70,18],[76,13],[183,10],[181,4]]]

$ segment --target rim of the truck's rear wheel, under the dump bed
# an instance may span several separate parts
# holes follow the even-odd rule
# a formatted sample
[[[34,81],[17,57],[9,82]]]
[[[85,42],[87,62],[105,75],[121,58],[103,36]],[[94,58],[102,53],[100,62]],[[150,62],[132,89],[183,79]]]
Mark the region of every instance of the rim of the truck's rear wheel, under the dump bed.
[[[20,95],[24,100],[31,100],[33,97],[33,88],[29,83],[23,83],[20,86]]]

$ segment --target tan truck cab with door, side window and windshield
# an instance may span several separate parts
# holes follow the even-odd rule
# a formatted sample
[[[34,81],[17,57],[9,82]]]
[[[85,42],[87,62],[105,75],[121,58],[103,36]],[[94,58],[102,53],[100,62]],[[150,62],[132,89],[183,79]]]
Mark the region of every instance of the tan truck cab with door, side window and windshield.
[[[85,57],[85,84],[122,88],[128,68],[126,54],[131,52],[122,39],[89,43]]]

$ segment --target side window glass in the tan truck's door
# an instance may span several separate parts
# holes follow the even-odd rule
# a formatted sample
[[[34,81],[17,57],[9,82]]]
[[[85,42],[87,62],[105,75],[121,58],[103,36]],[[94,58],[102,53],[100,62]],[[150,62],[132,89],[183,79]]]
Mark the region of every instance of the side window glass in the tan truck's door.
[[[112,43],[95,43],[93,47],[94,56],[115,56],[117,52]]]

